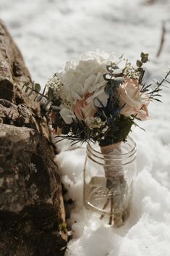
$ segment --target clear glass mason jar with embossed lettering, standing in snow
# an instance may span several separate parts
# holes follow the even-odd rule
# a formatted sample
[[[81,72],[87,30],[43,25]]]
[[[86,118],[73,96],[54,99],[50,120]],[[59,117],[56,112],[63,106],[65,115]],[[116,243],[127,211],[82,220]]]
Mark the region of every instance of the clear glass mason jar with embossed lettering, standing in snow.
[[[89,142],[84,168],[84,204],[110,225],[122,226],[129,217],[132,183],[136,175],[136,144],[100,147]]]

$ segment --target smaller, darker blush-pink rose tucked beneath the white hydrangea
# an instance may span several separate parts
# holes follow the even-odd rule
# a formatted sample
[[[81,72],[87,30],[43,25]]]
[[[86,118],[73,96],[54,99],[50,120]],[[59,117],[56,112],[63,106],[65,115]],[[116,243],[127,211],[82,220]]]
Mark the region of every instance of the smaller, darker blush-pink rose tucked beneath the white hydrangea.
[[[85,120],[95,115],[96,109],[91,102],[87,101],[91,95],[89,93],[85,94],[75,105],[75,115],[79,120]]]

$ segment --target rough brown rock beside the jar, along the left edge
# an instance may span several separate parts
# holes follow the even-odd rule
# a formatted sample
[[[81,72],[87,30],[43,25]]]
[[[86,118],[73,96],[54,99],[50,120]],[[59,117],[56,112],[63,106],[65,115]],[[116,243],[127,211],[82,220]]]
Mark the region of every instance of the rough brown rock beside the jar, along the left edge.
[[[22,91],[26,81],[20,50],[0,22],[0,255],[64,255],[61,179],[46,119]]]

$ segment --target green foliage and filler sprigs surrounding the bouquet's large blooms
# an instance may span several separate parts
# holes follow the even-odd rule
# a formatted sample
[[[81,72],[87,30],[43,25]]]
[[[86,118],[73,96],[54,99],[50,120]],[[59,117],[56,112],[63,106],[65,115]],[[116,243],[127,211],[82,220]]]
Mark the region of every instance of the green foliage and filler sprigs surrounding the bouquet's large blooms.
[[[163,83],[170,83],[167,80],[170,75],[170,70],[166,73],[166,76],[163,78],[161,83],[156,82],[156,87],[151,88],[151,84],[143,83],[143,76],[145,70],[143,69],[143,64],[148,62],[148,54],[141,52],[140,59],[137,59],[137,67],[132,67],[132,65],[127,61],[126,67],[123,70],[119,69],[118,65],[114,62],[111,65],[106,66],[107,73],[103,75],[103,78],[106,80],[106,86],[104,91],[109,95],[106,106],[96,97],[95,100],[100,103],[100,107],[96,107],[97,112],[94,115],[99,120],[99,125],[95,126],[94,123],[90,123],[90,126],[84,120],[78,120],[75,116],[71,124],[64,122],[63,118],[60,115],[61,104],[65,104],[59,96],[59,89],[63,86],[63,83],[57,75],[54,75],[52,80],[49,80],[48,85],[43,89],[41,93],[41,86],[39,83],[25,83],[23,88],[28,95],[35,93],[35,100],[40,102],[41,99],[45,99],[43,104],[44,109],[48,106],[47,115],[51,115],[52,127],[54,130],[61,129],[61,140],[70,139],[72,144],[77,142],[86,142],[86,141],[98,141],[101,146],[107,146],[110,144],[115,144],[120,141],[125,141],[129,131],[131,130],[132,125],[137,125],[135,123],[134,116],[125,117],[121,115],[122,107],[119,104],[119,90],[118,88],[124,83],[124,80],[127,78],[138,79],[140,85],[140,93],[148,94],[150,99],[154,99],[160,102],[158,97],[161,96],[161,86]],[[34,94],[33,94],[34,95]],[[72,103],[72,102],[71,102]],[[95,101],[94,101],[95,104]],[[66,107],[69,107],[69,104]],[[74,110],[73,110],[74,111]]]

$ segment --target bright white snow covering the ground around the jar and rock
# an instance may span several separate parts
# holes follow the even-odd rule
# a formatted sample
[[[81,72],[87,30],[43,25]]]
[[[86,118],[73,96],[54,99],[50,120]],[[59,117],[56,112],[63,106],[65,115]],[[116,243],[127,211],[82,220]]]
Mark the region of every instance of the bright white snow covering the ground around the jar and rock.
[[[124,53],[133,61],[150,53],[148,79],[167,70],[170,54],[170,1],[155,0],[1,0],[3,19],[22,50],[36,82],[46,83],[68,59],[96,48]],[[166,41],[156,52],[161,22]],[[150,104],[153,120],[135,128],[137,178],[132,213],[119,229],[103,226],[82,208],[85,149],[63,150],[57,157],[68,197],[75,201],[71,222],[74,239],[67,256],[169,256],[170,251],[170,89],[163,104]]]

